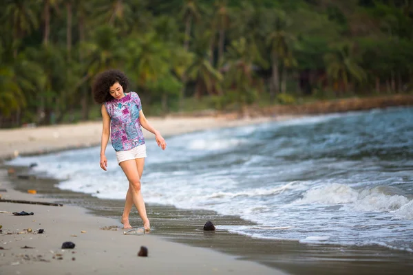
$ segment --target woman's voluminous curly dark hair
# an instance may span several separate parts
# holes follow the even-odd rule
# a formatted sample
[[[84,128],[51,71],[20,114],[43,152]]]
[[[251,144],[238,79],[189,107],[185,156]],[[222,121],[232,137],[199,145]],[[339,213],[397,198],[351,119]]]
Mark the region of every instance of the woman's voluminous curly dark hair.
[[[109,89],[117,82],[122,86],[123,92],[126,93],[129,87],[129,79],[127,79],[123,72],[120,72],[118,69],[109,69],[98,74],[92,85],[94,100],[99,104],[112,100],[113,97],[109,94]]]

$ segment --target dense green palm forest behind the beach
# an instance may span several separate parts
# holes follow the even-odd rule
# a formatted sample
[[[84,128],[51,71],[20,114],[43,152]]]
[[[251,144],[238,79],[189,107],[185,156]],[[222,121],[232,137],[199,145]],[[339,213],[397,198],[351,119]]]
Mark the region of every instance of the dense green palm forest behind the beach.
[[[412,1],[4,0],[0,10],[0,126],[99,118],[91,84],[109,68],[127,73],[152,115],[413,90]]]

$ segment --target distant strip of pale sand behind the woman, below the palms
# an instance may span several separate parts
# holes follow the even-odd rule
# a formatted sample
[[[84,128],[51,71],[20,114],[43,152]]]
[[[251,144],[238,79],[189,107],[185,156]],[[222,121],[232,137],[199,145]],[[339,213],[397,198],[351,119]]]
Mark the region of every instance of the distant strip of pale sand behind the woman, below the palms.
[[[213,128],[242,126],[268,121],[281,121],[295,118],[294,115],[281,115],[277,118],[149,118],[149,122],[164,137]],[[145,138],[153,135],[143,129]],[[70,148],[83,148],[100,144],[102,122],[82,122],[36,128],[0,129],[0,160],[17,155],[35,155],[61,151]],[[108,146],[110,148],[110,145]]]

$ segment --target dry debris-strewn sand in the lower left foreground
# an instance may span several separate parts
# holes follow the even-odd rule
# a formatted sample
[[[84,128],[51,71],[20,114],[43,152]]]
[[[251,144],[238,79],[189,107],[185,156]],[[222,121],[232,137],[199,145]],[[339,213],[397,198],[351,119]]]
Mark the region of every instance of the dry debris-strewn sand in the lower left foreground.
[[[2,192],[3,199],[56,201],[14,190],[6,173],[0,170],[1,188],[8,190]],[[156,232],[127,236],[122,229],[107,230],[116,226],[116,220],[98,217],[80,206],[3,202],[0,207],[1,274],[115,274],[136,268],[150,274],[285,274],[211,249],[173,243]],[[19,217],[11,213],[21,210],[34,215]],[[39,234],[39,229],[44,233]],[[65,241],[73,242],[75,248],[61,249]],[[147,247],[147,257],[137,256],[141,245]]]

